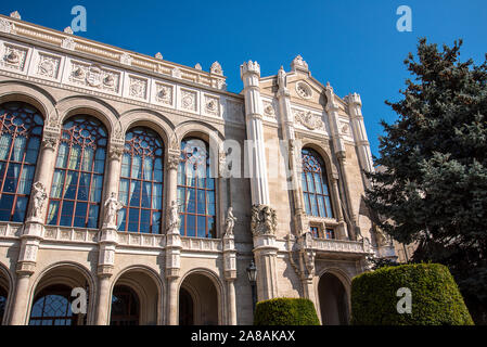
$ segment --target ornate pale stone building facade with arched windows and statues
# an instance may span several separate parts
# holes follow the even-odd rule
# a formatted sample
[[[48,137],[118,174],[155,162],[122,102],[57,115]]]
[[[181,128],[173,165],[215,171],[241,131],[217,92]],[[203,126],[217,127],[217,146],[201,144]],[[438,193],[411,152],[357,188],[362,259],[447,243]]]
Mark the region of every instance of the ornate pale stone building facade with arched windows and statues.
[[[209,72],[0,16],[2,324],[252,324],[306,297],[346,324],[394,248],[362,201],[361,100],[297,56]],[[74,311],[74,290],[86,310]],[[76,292],[75,291],[75,292]]]

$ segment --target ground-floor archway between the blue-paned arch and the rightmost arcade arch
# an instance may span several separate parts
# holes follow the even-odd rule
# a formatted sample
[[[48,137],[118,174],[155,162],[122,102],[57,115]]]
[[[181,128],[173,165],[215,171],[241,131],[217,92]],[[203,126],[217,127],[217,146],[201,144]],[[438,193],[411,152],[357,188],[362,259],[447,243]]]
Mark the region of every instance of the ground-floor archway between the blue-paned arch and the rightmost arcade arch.
[[[156,325],[161,291],[150,271],[124,272],[112,291],[110,325]]]

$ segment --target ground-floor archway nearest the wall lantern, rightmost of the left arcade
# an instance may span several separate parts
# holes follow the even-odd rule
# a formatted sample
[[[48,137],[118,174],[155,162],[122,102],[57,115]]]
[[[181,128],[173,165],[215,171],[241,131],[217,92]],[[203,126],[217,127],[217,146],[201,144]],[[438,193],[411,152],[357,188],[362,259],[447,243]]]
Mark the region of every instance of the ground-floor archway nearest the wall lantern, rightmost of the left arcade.
[[[201,272],[191,273],[179,290],[179,323],[181,325],[218,325],[219,294],[212,279]]]

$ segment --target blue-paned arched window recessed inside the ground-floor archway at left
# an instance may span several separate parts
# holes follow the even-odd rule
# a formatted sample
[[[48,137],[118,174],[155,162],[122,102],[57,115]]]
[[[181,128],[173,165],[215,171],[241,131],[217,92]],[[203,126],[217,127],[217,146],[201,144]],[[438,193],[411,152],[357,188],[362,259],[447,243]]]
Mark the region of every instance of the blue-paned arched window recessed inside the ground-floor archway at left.
[[[77,325],[78,314],[71,307],[72,288],[66,285],[51,285],[34,300],[29,325]]]

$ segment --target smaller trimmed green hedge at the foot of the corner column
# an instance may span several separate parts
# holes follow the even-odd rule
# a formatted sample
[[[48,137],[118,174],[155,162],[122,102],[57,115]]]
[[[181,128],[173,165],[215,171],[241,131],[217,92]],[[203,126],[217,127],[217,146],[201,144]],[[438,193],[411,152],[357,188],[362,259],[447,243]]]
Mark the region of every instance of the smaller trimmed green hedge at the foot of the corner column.
[[[320,325],[320,321],[311,300],[283,297],[257,303],[254,325]]]

